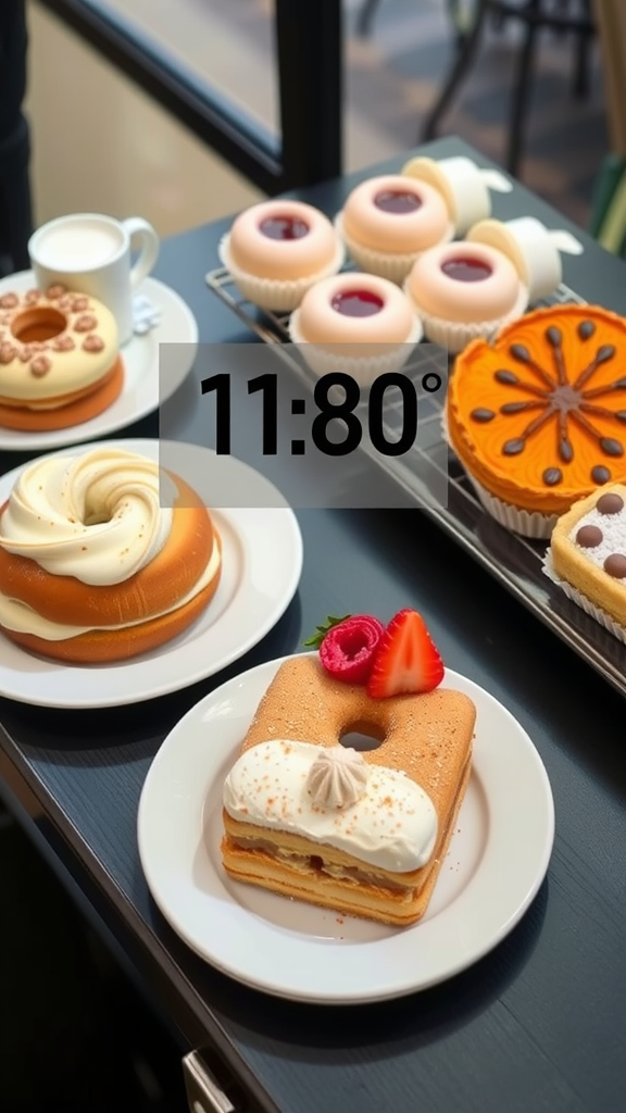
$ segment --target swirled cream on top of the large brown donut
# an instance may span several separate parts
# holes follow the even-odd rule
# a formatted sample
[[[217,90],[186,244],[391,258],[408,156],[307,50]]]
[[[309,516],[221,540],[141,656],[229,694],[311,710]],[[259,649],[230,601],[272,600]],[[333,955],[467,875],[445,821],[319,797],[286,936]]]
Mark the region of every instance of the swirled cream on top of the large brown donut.
[[[158,464],[117,447],[26,467],[0,518],[0,545],[53,575],[123,583],[165,545],[172,510],[159,505]]]

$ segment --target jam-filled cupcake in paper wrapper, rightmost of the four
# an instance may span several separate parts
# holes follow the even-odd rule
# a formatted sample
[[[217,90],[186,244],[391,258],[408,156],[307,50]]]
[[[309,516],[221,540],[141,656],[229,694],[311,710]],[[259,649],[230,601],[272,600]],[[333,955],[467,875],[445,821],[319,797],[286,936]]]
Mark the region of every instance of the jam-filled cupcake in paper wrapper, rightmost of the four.
[[[427,339],[453,354],[477,337],[489,339],[528,305],[528,287],[511,259],[488,244],[469,240],[420,255],[404,290]]]

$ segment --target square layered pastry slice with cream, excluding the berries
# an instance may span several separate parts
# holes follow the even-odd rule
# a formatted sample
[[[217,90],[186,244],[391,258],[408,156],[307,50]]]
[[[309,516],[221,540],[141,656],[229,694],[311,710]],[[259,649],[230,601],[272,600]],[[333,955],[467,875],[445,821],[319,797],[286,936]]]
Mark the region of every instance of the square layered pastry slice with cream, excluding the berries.
[[[285,661],[225,782],[226,871],[321,907],[414,923],[463,798],[475,715],[458,691],[380,699],[314,656]],[[382,745],[339,745],[352,731]]]

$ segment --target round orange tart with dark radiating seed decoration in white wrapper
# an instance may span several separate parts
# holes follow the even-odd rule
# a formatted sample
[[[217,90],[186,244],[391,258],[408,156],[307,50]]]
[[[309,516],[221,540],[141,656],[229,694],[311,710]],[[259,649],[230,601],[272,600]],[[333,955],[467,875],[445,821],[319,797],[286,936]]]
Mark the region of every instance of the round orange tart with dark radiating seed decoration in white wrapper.
[[[626,321],[538,309],[457,358],[448,435],[487,510],[528,536],[604,483],[626,481]]]

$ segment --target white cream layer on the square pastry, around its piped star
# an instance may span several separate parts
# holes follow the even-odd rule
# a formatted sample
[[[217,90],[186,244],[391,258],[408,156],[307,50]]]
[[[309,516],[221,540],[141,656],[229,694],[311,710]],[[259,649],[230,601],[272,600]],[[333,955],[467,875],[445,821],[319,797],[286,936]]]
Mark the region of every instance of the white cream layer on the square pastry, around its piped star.
[[[309,776],[320,757],[311,742],[273,739],[237,759],[224,782],[233,819],[293,831],[390,873],[420,869],[437,840],[430,797],[405,774],[371,765],[363,796],[341,810],[315,804]]]

